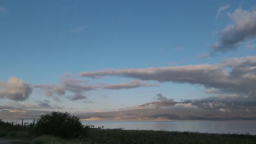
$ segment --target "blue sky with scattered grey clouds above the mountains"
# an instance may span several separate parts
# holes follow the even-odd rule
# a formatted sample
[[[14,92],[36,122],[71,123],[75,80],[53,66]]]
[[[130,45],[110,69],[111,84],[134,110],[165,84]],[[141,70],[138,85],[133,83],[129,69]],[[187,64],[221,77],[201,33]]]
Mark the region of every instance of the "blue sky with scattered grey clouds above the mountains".
[[[0,106],[256,101],[255,1],[0,1]]]

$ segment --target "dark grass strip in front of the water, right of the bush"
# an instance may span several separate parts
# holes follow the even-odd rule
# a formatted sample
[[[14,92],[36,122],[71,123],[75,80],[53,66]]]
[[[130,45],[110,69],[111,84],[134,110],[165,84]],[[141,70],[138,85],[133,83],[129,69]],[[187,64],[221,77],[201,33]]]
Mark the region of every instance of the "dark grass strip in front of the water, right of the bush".
[[[92,143],[256,143],[256,136],[237,134],[202,134],[177,131],[90,129],[84,139],[63,140],[39,136],[31,144],[92,144]]]

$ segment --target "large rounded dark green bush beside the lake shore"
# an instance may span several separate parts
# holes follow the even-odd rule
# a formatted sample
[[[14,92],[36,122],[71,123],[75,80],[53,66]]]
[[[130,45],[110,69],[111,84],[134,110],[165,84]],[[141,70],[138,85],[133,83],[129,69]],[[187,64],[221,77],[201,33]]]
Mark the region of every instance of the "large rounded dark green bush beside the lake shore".
[[[70,116],[65,112],[51,112],[40,116],[35,125],[36,134],[54,135],[65,139],[84,135],[84,127],[78,117]]]

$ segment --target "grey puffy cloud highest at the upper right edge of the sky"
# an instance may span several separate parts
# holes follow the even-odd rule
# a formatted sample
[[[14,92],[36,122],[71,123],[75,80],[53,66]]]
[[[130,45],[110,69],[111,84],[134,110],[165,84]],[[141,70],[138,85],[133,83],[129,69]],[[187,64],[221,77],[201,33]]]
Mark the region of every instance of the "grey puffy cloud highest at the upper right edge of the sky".
[[[219,40],[212,45],[213,53],[235,50],[243,41],[256,35],[256,10],[236,9],[228,16],[232,22],[218,32]]]

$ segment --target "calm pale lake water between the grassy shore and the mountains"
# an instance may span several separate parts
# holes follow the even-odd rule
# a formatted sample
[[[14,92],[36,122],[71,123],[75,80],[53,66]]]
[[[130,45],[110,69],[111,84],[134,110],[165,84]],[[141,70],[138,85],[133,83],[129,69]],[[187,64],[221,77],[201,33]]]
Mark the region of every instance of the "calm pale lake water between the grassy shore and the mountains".
[[[231,133],[256,135],[256,121],[82,121],[104,129],[198,131],[200,133]]]

